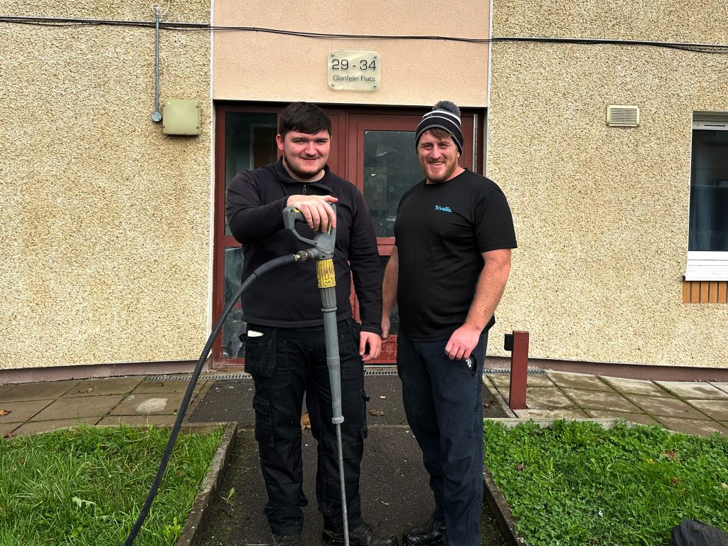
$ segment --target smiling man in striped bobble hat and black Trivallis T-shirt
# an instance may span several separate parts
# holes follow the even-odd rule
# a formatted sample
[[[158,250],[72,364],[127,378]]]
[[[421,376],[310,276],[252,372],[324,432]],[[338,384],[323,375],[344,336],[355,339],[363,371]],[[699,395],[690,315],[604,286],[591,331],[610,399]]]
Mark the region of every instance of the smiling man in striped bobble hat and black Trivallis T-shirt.
[[[425,178],[400,199],[384,272],[382,336],[396,303],[405,413],[435,494],[405,546],[480,546],[483,360],[516,243],[505,196],[458,165],[462,146],[459,108],[441,101],[417,127]]]

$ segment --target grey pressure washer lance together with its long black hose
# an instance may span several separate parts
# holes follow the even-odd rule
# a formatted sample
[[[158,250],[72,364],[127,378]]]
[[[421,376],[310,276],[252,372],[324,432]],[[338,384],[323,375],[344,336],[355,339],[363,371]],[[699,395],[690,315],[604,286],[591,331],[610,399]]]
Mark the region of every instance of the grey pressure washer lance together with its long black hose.
[[[335,205],[332,204],[331,206],[334,207],[334,210],[336,210]],[[170,432],[170,439],[167,440],[167,447],[165,448],[165,453],[162,455],[162,462],[159,463],[157,475],[154,477],[154,482],[151,484],[149,494],[146,496],[146,500],[139,512],[137,521],[134,523],[134,526],[132,526],[131,531],[129,531],[129,535],[124,542],[124,546],[131,546],[134,543],[144,520],[146,520],[146,516],[149,515],[151,503],[154,502],[154,497],[157,496],[159,484],[162,483],[162,477],[165,475],[165,470],[167,470],[167,462],[170,460],[172,450],[175,446],[175,441],[177,440],[184,416],[192,398],[192,393],[194,392],[194,387],[197,384],[197,379],[199,379],[199,374],[202,372],[202,366],[205,365],[207,355],[210,355],[210,349],[213,348],[213,343],[220,334],[223,324],[225,323],[225,319],[232,311],[232,308],[240,299],[242,293],[245,292],[245,290],[248,290],[248,287],[253,284],[253,281],[255,281],[258,277],[262,277],[267,272],[277,269],[280,266],[296,264],[312,259],[317,260],[316,272],[319,287],[321,288],[321,299],[323,302],[324,333],[327,355],[326,364],[329,368],[329,381],[331,383],[333,408],[333,419],[331,419],[331,421],[336,424],[336,440],[339,446],[339,478],[341,483],[341,510],[343,510],[344,515],[344,544],[349,546],[347,502],[346,491],[344,489],[344,458],[341,452],[341,423],[344,422],[344,417],[341,416],[341,365],[339,363],[339,338],[336,333],[336,277],[333,272],[332,261],[333,248],[336,242],[336,229],[331,229],[330,226],[328,231],[317,232],[313,239],[306,239],[296,232],[296,229],[294,228],[294,223],[296,221],[304,221],[304,216],[301,212],[291,207],[285,208],[283,210],[283,223],[285,228],[290,230],[290,232],[298,240],[306,242],[306,244],[311,245],[312,248],[306,248],[306,250],[299,250],[295,254],[288,254],[286,256],[280,256],[280,258],[274,258],[270,261],[266,261],[265,264],[258,267],[258,269],[253,271],[253,273],[245,279],[245,282],[242,283],[240,288],[238,288],[237,292],[234,293],[233,297],[230,298],[230,301],[223,309],[218,322],[215,323],[213,331],[210,333],[210,337],[207,338],[207,343],[205,343],[205,347],[202,349],[202,355],[200,355],[199,360],[197,360],[197,365],[195,365],[194,371],[192,372],[189,384],[187,385],[187,390],[182,397],[182,403],[180,404],[179,411],[177,412],[177,419],[175,419],[175,424]]]

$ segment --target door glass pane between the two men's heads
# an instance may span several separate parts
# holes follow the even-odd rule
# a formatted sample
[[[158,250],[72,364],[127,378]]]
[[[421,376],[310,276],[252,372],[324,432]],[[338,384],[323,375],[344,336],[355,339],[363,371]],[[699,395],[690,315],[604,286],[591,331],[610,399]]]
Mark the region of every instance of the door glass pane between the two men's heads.
[[[395,236],[400,197],[421,180],[414,131],[364,132],[364,199],[377,237]]]

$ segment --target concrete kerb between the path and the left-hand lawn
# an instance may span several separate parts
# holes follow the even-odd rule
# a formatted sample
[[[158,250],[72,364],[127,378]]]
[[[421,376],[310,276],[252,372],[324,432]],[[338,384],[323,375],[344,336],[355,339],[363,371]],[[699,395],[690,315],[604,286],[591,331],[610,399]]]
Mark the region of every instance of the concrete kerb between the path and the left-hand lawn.
[[[200,427],[209,428],[210,424],[200,425],[199,427],[197,425],[189,425],[186,428],[194,430]],[[228,422],[220,444],[213,455],[213,460],[210,462],[210,470],[207,472],[205,479],[202,480],[202,489],[199,491],[194,505],[192,505],[192,510],[189,513],[184,529],[182,529],[182,534],[177,539],[175,546],[199,546],[202,531],[210,515],[210,508],[213,505],[218,488],[223,481],[225,470],[232,455],[236,432],[237,422]]]

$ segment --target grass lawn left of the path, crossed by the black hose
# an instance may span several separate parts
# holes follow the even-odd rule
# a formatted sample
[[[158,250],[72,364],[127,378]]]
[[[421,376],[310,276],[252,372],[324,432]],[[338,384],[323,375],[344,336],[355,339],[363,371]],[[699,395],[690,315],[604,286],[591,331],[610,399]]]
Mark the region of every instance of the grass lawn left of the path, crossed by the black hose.
[[[135,546],[175,544],[222,433],[177,438]],[[0,546],[122,545],[169,435],[155,427],[79,427],[0,440]]]

